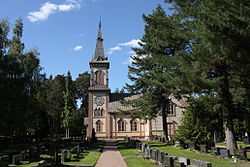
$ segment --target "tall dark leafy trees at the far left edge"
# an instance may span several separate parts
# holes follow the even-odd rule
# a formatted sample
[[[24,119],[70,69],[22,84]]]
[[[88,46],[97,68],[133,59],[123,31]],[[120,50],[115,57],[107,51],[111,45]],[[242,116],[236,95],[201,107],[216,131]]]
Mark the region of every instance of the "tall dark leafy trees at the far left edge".
[[[21,41],[23,23],[18,19],[12,39],[8,39],[9,23],[0,21],[0,134],[23,136],[42,135],[47,126],[44,110],[37,99],[43,76],[40,74],[39,53],[24,51]],[[46,131],[44,131],[46,133]]]

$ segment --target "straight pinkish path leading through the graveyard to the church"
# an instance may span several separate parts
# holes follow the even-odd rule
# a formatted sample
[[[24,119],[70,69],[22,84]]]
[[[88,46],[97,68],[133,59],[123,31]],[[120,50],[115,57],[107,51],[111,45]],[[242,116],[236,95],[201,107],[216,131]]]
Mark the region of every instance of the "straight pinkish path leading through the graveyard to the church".
[[[108,140],[96,167],[127,167],[114,140]]]

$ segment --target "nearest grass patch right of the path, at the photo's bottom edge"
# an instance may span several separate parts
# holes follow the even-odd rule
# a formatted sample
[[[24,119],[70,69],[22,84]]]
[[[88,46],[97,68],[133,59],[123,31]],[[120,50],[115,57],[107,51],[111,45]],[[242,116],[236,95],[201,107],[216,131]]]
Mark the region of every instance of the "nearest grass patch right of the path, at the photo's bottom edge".
[[[157,165],[148,159],[127,157],[124,158],[128,167],[157,167]]]

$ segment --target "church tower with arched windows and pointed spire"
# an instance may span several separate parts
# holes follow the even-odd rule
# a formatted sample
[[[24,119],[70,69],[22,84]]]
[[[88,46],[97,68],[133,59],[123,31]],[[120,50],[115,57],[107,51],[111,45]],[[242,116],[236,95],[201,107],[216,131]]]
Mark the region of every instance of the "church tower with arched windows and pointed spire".
[[[108,86],[109,61],[104,55],[101,22],[99,23],[98,35],[96,40],[95,55],[89,62],[91,77],[90,88],[88,90],[88,130],[87,137],[91,138],[93,129],[99,138],[109,138],[110,115],[108,104],[110,89]]]

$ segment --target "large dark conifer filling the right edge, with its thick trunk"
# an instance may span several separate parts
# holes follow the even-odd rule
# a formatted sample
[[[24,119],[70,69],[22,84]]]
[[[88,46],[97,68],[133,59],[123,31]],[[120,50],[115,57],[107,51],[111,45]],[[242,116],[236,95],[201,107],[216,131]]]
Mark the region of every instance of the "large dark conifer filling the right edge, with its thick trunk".
[[[190,77],[193,80],[189,79],[189,82],[200,93],[218,93],[227,148],[234,152],[237,145],[232,121],[235,113],[232,80],[239,77],[236,81],[238,86],[243,86],[242,81],[249,80],[247,73],[250,60],[247,46],[250,44],[250,31],[249,13],[246,11],[249,11],[250,4],[236,0],[171,2],[174,2],[176,13],[187,27],[186,36],[192,41],[190,50],[185,55],[188,57],[185,58],[189,65],[187,69],[200,78]],[[209,80],[213,82],[212,88],[207,87],[206,82]]]

